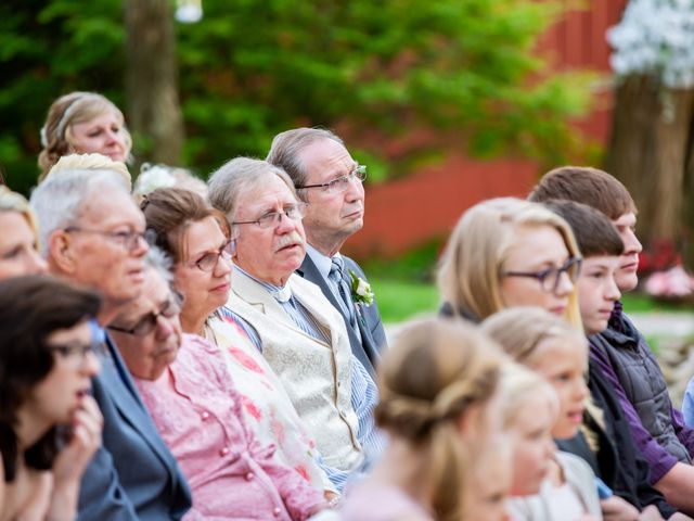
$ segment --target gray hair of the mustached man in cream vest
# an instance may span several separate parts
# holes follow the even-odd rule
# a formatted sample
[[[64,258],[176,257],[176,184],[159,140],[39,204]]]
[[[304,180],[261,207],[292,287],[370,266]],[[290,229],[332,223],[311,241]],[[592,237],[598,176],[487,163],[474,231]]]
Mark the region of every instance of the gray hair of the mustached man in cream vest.
[[[271,176],[282,179],[297,198],[292,179],[282,168],[252,157],[234,157],[213,173],[207,181],[207,198],[215,208],[227,216],[231,226],[239,209],[240,195],[262,186]]]

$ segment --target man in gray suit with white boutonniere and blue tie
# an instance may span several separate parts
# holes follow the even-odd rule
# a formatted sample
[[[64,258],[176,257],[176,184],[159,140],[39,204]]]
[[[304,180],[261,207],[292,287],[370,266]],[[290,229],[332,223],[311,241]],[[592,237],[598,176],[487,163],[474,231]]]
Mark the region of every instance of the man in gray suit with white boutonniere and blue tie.
[[[381,314],[362,269],[339,253],[364,223],[367,167],[352,160],[342,139],[319,128],[279,134],[267,161],[290,175],[308,204],[306,258],[297,272],[317,284],[340,313],[352,353],[374,374],[386,345]]]

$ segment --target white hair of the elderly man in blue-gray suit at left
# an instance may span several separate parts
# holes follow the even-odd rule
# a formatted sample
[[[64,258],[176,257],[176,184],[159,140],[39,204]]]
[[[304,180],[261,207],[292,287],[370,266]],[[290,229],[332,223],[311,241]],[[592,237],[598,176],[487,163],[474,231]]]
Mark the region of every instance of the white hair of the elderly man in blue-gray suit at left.
[[[114,191],[130,195],[121,175],[113,170],[62,171],[39,185],[29,204],[39,223],[42,255],[48,254],[51,234],[79,221],[85,203],[94,193]]]

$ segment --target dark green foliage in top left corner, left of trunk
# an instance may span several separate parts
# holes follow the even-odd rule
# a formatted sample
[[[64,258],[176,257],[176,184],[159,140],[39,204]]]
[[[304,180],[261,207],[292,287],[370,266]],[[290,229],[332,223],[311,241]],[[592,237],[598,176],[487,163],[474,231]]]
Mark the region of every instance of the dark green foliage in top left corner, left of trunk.
[[[36,183],[55,98],[97,90],[124,106],[121,18],[119,0],[0,2],[0,164],[12,188]]]

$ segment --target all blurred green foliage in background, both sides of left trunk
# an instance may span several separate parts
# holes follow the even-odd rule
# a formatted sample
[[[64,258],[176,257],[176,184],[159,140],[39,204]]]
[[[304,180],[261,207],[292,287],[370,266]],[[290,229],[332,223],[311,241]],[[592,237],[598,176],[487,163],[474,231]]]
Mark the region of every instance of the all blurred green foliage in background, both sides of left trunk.
[[[204,175],[239,154],[265,156],[274,134],[298,125],[336,128],[374,163],[371,180],[407,174],[451,144],[548,163],[576,144],[566,122],[586,106],[586,78],[540,79],[534,52],[557,13],[553,2],[203,7],[202,22],[177,26],[177,53],[182,164]],[[0,162],[16,188],[36,179],[38,131],[57,96],[98,90],[125,109],[121,10],[118,0],[0,4]],[[413,130],[422,138],[408,141]],[[146,158],[141,140],[136,154]],[[397,140],[408,144],[384,145]]]

